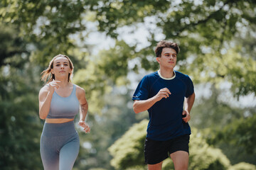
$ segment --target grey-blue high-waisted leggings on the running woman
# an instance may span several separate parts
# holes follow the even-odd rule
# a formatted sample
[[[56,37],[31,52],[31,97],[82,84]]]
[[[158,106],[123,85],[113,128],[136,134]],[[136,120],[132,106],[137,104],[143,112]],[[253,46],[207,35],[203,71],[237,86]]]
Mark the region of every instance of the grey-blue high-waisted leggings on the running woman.
[[[72,169],[79,147],[79,136],[73,121],[43,125],[40,153],[45,170]]]

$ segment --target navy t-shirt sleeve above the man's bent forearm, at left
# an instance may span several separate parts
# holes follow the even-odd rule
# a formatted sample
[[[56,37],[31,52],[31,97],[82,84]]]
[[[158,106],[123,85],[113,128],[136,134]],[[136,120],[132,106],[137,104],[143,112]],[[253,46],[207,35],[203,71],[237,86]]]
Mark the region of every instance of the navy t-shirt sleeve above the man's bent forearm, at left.
[[[141,101],[149,98],[149,80],[143,77],[142,81],[139,82],[137,89],[132,96],[132,100]]]

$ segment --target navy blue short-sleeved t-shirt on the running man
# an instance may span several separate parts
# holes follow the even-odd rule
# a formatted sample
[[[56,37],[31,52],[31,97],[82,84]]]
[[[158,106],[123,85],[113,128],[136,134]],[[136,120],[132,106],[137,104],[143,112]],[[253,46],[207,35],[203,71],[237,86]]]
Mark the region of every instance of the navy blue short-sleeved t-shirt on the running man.
[[[167,88],[168,98],[162,98],[149,108],[147,135],[151,140],[170,140],[181,135],[191,134],[188,123],[182,120],[184,97],[193,94],[193,82],[186,74],[174,71],[174,77],[165,79],[160,72],[147,74],[139,82],[132,100],[146,100]]]

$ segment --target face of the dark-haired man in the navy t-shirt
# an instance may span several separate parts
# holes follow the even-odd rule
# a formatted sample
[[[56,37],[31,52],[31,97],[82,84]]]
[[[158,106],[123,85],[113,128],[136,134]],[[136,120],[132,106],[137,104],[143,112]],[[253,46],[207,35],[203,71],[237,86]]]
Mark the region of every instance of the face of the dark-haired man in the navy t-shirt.
[[[173,48],[164,47],[161,52],[161,57],[156,57],[156,61],[159,62],[160,67],[174,69],[177,61],[177,53]]]

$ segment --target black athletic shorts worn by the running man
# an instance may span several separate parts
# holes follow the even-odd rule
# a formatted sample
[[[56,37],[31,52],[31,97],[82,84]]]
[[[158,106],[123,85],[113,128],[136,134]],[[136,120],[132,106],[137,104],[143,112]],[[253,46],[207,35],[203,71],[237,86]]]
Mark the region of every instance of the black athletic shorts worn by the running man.
[[[144,145],[145,163],[158,164],[176,151],[188,152],[189,138],[189,135],[182,135],[171,140],[156,141],[146,137]]]

